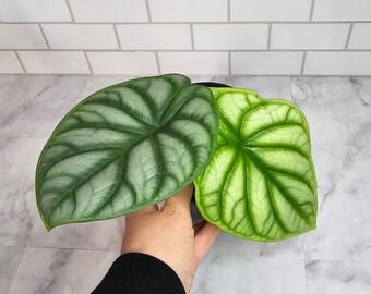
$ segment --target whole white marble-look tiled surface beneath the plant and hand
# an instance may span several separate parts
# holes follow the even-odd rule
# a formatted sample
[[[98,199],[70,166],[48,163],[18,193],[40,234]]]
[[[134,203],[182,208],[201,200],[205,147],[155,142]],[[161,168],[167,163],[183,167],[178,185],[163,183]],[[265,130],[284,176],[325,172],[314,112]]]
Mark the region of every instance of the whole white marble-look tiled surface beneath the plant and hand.
[[[89,293],[118,255],[124,218],[47,233],[38,155],[65,112],[128,76],[0,76],[0,293]],[[192,294],[371,293],[371,78],[211,77],[286,98],[308,117],[319,182],[318,230],[279,243],[222,233]]]

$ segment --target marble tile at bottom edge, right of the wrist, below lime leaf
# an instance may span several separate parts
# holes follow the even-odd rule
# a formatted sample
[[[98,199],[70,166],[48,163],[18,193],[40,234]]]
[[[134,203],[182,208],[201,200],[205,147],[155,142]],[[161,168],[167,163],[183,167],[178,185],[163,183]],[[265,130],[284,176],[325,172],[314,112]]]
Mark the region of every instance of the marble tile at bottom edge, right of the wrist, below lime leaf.
[[[200,265],[191,293],[306,294],[304,260],[208,255]]]

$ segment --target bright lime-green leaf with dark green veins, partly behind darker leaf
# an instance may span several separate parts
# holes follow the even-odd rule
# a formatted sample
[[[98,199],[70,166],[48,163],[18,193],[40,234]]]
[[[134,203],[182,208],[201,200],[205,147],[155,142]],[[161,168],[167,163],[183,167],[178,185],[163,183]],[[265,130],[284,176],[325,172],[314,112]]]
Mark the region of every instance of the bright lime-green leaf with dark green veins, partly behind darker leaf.
[[[219,135],[210,166],[195,180],[202,216],[254,241],[279,241],[314,229],[316,180],[303,113],[250,90],[211,89]]]

